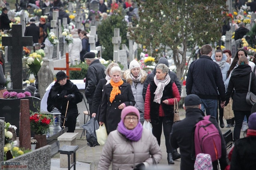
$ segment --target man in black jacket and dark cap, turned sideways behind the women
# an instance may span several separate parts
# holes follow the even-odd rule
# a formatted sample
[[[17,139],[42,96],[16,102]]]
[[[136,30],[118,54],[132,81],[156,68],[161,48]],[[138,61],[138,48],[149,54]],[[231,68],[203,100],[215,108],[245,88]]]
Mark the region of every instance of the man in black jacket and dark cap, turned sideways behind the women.
[[[84,60],[88,64],[86,82],[85,82],[85,97],[87,103],[89,104],[90,118],[92,118],[92,107],[93,107],[93,96],[96,89],[96,86],[99,83],[99,80],[105,78],[105,69],[106,67],[99,62],[99,59],[95,58],[94,52],[87,52],[84,54]]]

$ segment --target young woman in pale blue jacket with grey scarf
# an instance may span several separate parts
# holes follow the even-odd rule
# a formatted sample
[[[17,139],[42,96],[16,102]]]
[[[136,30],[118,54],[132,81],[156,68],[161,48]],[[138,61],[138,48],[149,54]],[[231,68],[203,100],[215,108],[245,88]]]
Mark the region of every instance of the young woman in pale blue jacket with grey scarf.
[[[212,60],[220,66],[223,82],[224,82],[225,88],[227,89],[228,82],[229,82],[229,79],[227,79],[227,71],[230,65],[229,63],[226,62],[227,60],[226,54],[223,54],[222,50],[218,49],[215,51],[215,54],[212,55]],[[224,109],[221,108],[220,95],[218,95],[218,108],[219,108],[220,127],[224,128],[224,122],[223,122]],[[216,120],[218,122],[218,110],[217,110]]]

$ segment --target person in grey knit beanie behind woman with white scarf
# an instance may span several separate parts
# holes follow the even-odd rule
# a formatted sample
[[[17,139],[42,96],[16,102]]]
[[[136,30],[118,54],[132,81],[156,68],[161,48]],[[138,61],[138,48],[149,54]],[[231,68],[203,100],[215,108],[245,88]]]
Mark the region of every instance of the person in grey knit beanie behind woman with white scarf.
[[[169,67],[168,60],[165,57],[161,57],[158,60],[158,64],[165,64],[167,67]],[[155,66],[154,70],[151,73],[148,74],[147,79],[146,79],[146,81],[143,84],[142,96],[143,96],[144,101],[145,101],[145,97],[146,97],[146,92],[147,92],[149,81],[153,80],[155,75],[156,75],[156,67],[157,66]],[[180,84],[180,81],[179,81],[177,75],[175,74],[175,72],[172,72],[170,70],[169,70],[168,74],[169,74],[171,80],[173,80],[174,83],[176,84],[176,86],[177,86],[177,88],[179,90],[179,93],[181,95],[181,84]]]

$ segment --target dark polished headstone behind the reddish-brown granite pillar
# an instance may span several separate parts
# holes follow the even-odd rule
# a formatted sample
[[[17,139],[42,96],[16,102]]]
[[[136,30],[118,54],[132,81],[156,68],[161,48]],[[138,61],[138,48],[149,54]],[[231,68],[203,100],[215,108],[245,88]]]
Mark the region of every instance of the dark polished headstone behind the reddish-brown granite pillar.
[[[40,111],[40,99],[36,97],[25,97],[16,99],[0,98],[0,117],[5,118],[5,122],[17,127],[16,133],[19,136],[20,130],[20,99],[29,99],[29,110]],[[30,128],[30,125],[28,125]]]

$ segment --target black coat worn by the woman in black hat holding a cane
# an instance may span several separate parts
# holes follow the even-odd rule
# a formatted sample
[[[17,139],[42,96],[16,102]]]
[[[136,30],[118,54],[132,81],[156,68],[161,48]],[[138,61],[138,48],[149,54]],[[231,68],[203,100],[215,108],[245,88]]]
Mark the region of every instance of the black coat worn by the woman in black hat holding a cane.
[[[64,86],[60,86],[58,82],[55,82],[50,89],[47,98],[48,112],[51,112],[53,107],[56,107],[61,111],[62,115],[65,116],[68,100],[67,98],[64,98],[64,96],[69,94],[75,95],[75,98],[69,101],[68,111],[73,109],[77,110],[77,104],[83,100],[83,96],[79,92],[77,86],[70,80],[67,80],[67,83]]]

